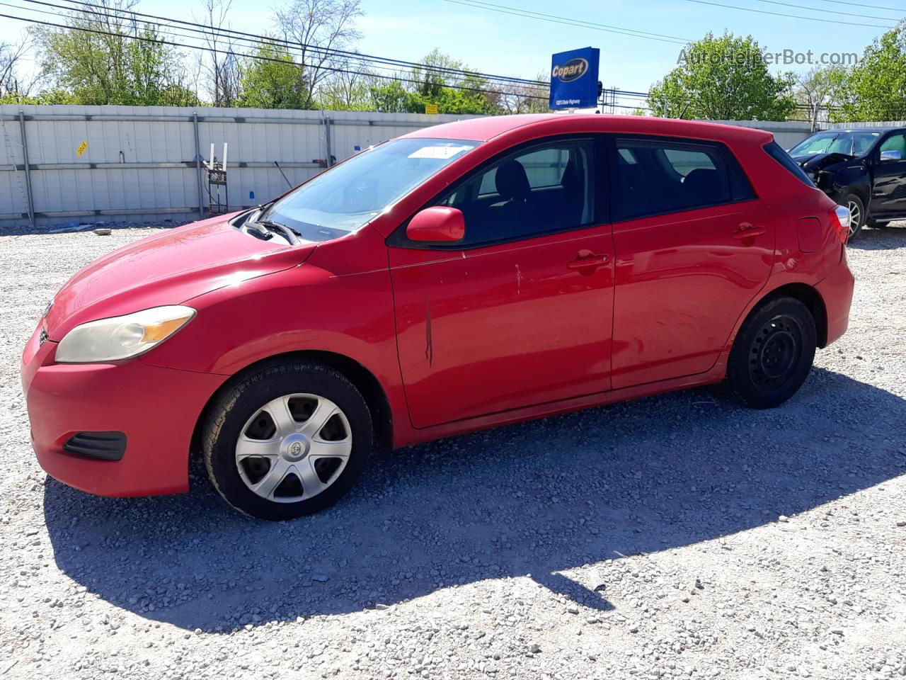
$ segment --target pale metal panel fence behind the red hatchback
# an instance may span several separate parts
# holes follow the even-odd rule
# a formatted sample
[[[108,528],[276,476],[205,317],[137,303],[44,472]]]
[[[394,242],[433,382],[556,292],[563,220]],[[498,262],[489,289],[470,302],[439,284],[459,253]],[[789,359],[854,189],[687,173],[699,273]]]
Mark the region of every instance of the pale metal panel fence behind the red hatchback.
[[[199,197],[196,143],[207,160],[211,142],[218,158],[228,142],[229,205],[238,209],[283,193],[287,180],[296,185],[323,170],[318,161],[327,158],[328,144],[342,160],[357,148],[460,118],[464,116],[3,105],[0,229],[29,223],[29,180],[38,224],[198,219],[199,202],[207,205],[208,196],[203,182]],[[727,122],[771,131],[785,148],[810,132],[805,122]],[[83,142],[87,147],[80,154]]]

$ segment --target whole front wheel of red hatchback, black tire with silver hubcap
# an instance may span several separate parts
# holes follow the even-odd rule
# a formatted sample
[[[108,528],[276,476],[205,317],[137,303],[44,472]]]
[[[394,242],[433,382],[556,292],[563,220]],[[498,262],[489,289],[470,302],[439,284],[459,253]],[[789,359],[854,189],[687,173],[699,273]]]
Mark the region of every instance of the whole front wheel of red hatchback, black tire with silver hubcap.
[[[292,520],[352,489],[372,439],[368,405],[344,375],[288,361],[226,389],[207,417],[202,448],[227,503],[261,520]]]

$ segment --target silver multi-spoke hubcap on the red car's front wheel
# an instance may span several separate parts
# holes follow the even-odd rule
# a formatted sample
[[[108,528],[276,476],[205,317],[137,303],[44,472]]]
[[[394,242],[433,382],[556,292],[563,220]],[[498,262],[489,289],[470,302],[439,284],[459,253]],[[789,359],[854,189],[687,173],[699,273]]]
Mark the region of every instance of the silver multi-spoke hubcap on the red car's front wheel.
[[[308,500],[340,477],[352,453],[352,428],[339,406],[317,394],[286,394],[246,421],[236,469],[258,496]]]

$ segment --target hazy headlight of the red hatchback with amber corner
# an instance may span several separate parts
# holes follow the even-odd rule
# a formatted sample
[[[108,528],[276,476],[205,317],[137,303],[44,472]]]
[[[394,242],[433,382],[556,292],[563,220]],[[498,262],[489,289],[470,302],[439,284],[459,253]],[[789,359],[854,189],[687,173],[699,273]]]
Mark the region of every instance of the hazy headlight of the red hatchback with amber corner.
[[[55,358],[61,364],[129,359],[162,343],[193,316],[195,310],[191,307],[173,305],[90,321],[77,325],[63,337]]]

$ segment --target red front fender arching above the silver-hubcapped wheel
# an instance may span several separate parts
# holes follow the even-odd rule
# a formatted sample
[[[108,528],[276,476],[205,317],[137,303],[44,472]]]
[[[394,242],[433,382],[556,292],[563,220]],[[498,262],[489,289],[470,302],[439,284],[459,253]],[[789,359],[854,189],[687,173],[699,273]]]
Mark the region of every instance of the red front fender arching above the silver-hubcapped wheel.
[[[230,376],[275,355],[330,352],[374,376],[394,421],[407,417],[386,267],[340,274],[309,260],[186,304],[196,318],[140,361]]]

